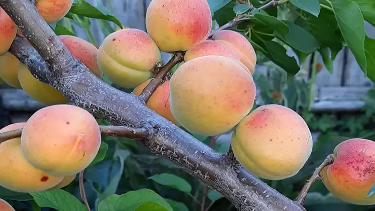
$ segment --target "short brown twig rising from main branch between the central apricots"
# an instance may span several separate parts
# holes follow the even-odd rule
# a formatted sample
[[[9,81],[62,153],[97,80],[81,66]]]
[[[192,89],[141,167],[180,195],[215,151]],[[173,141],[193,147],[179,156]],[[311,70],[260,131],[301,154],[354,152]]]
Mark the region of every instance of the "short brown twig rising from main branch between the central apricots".
[[[150,81],[150,83],[143,89],[142,93],[139,95],[145,103],[147,103],[152,95],[152,93],[157,89],[157,87],[161,84],[163,78],[169,70],[171,70],[175,65],[184,61],[185,52],[178,51],[176,52],[173,57],[165,64],[163,67],[156,68],[156,75]],[[159,70],[157,70],[159,69]]]

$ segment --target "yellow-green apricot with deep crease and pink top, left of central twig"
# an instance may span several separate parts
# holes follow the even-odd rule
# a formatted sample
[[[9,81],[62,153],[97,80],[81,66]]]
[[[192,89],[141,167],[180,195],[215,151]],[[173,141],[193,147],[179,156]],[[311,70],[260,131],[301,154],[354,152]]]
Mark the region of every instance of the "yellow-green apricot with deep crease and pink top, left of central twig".
[[[123,88],[135,88],[149,79],[161,62],[161,53],[150,35],[138,29],[122,29],[108,35],[98,49],[100,70]]]

